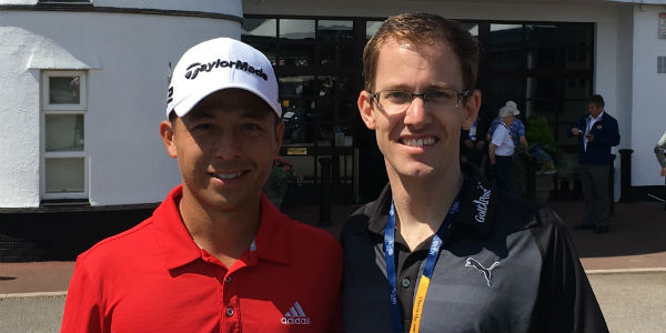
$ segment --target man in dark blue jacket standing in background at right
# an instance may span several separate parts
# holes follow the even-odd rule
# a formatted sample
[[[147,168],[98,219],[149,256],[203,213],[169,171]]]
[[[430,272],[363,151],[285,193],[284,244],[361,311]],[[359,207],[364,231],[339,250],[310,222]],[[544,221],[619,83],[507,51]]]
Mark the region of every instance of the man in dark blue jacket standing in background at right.
[[[599,94],[587,100],[588,114],[571,129],[578,137],[578,162],[581,185],[585,196],[585,222],[577,229],[594,229],[596,233],[608,232],[608,173],[610,148],[619,144],[617,120],[604,110]]]

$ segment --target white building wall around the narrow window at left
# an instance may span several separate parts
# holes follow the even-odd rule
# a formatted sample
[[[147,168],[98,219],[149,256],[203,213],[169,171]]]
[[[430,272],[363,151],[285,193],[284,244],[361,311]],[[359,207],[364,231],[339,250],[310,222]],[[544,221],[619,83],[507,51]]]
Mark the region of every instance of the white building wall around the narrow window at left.
[[[169,9],[192,10],[170,2]],[[231,14],[240,12],[240,1],[193,2],[218,9],[235,3]],[[34,67],[52,60],[54,69],[90,69],[84,137],[90,203],[152,203],[180,183],[178,163],[158,130],[165,119],[169,62],[175,65],[203,40],[240,38],[238,21],[157,14],[8,10],[0,11],[0,208],[40,202]],[[41,60],[31,59],[33,53]]]

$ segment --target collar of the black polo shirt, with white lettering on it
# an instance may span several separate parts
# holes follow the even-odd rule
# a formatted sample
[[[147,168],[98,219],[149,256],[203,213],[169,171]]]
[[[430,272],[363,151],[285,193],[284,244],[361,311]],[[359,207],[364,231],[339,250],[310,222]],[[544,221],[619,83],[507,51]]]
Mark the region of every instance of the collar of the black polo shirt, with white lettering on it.
[[[478,170],[463,165],[465,182],[461,199],[461,210],[453,220],[453,230],[466,230],[487,236],[493,231],[497,211],[497,189],[483,178]],[[367,229],[383,236],[389,210],[391,209],[391,184],[386,184],[380,198],[367,211]],[[453,232],[455,234],[455,232]]]

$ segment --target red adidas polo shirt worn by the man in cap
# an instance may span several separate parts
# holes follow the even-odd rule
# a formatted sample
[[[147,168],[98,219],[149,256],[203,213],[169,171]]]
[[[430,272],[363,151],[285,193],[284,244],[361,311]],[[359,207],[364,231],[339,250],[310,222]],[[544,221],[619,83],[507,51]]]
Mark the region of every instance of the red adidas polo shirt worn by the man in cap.
[[[255,246],[226,269],[192,240],[181,195],[79,255],[62,332],[340,331],[342,250],[331,234],[262,195]]]

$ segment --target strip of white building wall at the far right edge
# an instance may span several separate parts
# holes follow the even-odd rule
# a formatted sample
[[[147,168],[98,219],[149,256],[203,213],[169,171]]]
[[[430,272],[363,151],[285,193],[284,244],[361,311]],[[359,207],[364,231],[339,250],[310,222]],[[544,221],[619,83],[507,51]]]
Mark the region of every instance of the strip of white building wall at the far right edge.
[[[666,39],[658,38],[664,6],[636,4],[634,9],[634,99],[632,108],[632,183],[659,185],[654,147],[666,131],[666,73],[657,73],[657,57],[666,57]]]

